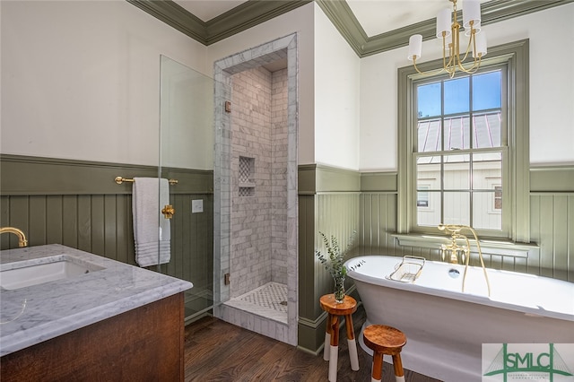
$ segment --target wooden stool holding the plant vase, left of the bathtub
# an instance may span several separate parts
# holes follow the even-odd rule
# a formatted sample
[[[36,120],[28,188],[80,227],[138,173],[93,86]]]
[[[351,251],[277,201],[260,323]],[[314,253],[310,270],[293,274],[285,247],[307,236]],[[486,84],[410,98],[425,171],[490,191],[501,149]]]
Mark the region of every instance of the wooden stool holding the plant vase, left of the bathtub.
[[[352,314],[357,310],[357,301],[351,296],[345,296],[343,302],[335,302],[333,293],[321,297],[321,308],[328,313],[325,331],[325,349],[323,359],[329,361],[329,381],[337,380],[337,357],[339,353],[339,317],[344,316],[347,327],[347,343],[349,344],[349,357],[351,369],[359,369],[359,357],[357,357],[357,343],[352,328]],[[327,343],[330,344],[327,350]]]

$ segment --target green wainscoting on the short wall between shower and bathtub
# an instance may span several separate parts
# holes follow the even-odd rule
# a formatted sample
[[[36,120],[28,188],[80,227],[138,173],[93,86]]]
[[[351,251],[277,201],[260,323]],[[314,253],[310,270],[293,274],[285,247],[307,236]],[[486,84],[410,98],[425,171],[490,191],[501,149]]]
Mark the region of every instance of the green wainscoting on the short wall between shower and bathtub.
[[[298,345],[317,353],[325,339],[326,320],[318,301],[333,292],[333,278],[315,256],[322,245],[319,232],[335,236],[345,247],[353,230],[359,230],[361,177],[357,171],[305,165],[299,167],[299,181]]]

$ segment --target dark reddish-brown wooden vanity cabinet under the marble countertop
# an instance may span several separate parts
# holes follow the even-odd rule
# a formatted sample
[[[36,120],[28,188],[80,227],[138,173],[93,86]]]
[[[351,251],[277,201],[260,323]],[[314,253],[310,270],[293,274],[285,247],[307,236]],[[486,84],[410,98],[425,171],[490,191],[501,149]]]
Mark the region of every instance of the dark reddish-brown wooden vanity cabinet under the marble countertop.
[[[9,381],[183,381],[183,292],[5,355]]]

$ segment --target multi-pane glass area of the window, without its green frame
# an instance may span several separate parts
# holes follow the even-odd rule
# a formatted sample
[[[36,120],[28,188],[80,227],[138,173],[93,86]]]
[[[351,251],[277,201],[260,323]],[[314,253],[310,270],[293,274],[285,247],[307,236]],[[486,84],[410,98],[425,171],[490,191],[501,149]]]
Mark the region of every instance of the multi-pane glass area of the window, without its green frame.
[[[486,181],[503,179],[505,166],[502,69],[413,82],[415,226],[444,222],[502,230],[504,214],[489,212],[493,201],[501,200],[504,182],[494,188]],[[429,183],[429,178],[436,180]],[[419,205],[423,192],[428,195],[424,206]]]

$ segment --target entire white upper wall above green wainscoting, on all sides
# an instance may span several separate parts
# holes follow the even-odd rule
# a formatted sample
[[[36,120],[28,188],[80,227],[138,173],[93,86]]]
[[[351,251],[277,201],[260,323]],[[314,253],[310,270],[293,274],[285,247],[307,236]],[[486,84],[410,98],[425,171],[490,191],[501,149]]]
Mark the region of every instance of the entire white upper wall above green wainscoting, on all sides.
[[[0,152],[157,165],[160,55],[212,76],[214,61],[297,32],[299,163],[397,168],[406,48],[359,59],[317,4],[209,47],[125,1],[0,1],[0,17]],[[572,20],[565,4],[485,27],[491,46],[530,39],[533,165],[574,163]],[[423,60],[440,55],[423,48]]]

